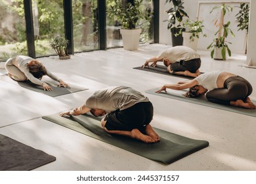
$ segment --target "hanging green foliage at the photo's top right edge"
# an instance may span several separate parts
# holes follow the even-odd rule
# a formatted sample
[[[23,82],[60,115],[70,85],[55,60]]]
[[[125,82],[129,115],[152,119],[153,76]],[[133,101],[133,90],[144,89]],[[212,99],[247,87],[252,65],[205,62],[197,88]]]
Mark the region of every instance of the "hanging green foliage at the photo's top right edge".
[[[236,14],[236,22],[238,22],[238,31],[239,30],[246,30],[248,33],[249,28],[249,11],[250,7],[248,4],[240,3],[240,7],[238,7],[240,11]]]

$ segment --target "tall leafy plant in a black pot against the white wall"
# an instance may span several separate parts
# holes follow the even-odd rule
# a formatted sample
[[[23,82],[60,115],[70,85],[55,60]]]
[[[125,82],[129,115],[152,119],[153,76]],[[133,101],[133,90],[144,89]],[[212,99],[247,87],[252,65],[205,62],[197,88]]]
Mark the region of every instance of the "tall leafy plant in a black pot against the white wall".
[[[188,14],[183,10],[183,0],[166,0],[166,3],[170,2],[172,2],[172,7],[166,11],[169,17],[164,22],[168,22],[167,28],[172,33],[172,46],[174,47],[176,45],[183,45],[182,32],[185,29],[182,27],[181,22],[184,16],[188,17]]]

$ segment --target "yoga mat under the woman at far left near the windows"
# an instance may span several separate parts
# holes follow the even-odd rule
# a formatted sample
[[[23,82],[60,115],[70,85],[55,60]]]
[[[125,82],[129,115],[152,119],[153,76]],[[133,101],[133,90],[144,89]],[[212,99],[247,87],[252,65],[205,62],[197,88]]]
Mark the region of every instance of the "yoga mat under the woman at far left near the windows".
[[[49,95],[51,97],[57,97],[60,95],[66,95],[69,93],[75,93],[78,91],[87,90],[87,88],[85,88],[85,87],[80,87],[80,86],[72,85],[69,83],[68,83],[68,85],[70,87],[59,87],[57,81],[51,80],[48,77],[43,77],[43,81],[48,83],[51,86],[51,88],[53,89],[53,91],[44,91],[43,87],[41,85],[36,85],[29,80],[26,82],[25,81],[14,81],[11,78],[9,78],[9,76],[7,76],[7,75],[0,76],[0,80],[7,81],[7,82],[13,83],[15,85],[20,85],[21,87],[25,87],[27,89],[31,89],[31,90],[37,91],[39,93],[43,93],[43,94]]]

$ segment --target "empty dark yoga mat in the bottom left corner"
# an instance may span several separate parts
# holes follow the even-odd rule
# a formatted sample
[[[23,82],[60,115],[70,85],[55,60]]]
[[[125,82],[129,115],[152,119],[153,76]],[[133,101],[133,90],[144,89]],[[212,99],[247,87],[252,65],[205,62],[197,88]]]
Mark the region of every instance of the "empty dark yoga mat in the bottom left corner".
[[[29,171],[55,160],[55,156],[0,134],[0,171]]]

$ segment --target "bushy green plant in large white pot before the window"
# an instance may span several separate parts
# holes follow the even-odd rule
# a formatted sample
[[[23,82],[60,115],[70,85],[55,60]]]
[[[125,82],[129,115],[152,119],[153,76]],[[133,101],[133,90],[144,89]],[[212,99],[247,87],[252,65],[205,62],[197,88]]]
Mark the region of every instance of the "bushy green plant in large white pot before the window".
[[[120,34],[124,49],[137,50],[140,42],[141,28],[137,28],[141,20],[151,18],[142,7],[142,0],[135,0],[133,3],[123,3],[122,0],[115,1],[110,6],[109,16],[116,18],[121,24]]]

